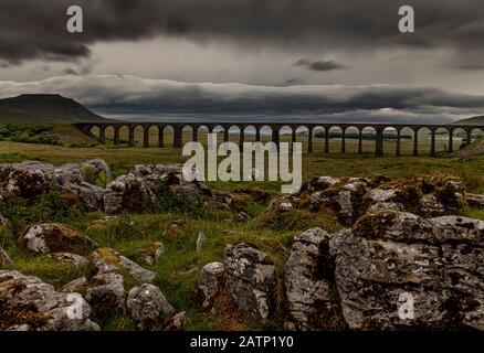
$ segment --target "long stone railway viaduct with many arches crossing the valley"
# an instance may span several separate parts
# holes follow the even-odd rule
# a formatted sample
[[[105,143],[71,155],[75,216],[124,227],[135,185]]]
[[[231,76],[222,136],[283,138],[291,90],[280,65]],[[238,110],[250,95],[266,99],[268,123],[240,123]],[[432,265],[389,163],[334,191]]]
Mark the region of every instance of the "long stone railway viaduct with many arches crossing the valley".
[[[267,129],[270,128],[272,130],[272,138],[271,140],[275,142],[276,145],[280,143],[281,138],[281,130],[283,128],[290,128],[292,130],[292,141],[295,142],[297,138],[297,129],[299,128],[306,128],[308,130],[308,147],[307,151],[313,152],[314,146],[313,146],[313,131],[316,128],[319,128],[323,130],[323,138],[324,138],[324,151],[329,152],[329,139],[330,135],[329,131],[333,128],[339,128],[340,132],[340,152],[346,152],[346,137],[348,129],[353,129],[354,131],[358,131],[358,152],[362,152],[362,140],[364,140],[364,130],[371,128],[373,129],[375,133],[375,156],[382,157],[383,156],[383,140],[385,140],[385,131],[388,129],[391,129],[393,133],[396,133],[396,156],[400,156],[400,146],[401,146],[401,139],[402,139],[402,130],[404,128],[411,129],[413,133],[413,156],[419,156],[419,131],[422,129],[428,129],[430,131],[430,154],[435,154],[435,136],[438,131],[446,131],[449,132],[449,143],[448,143],[448,152],[454,151],[454,131],[462,130],[465,133],[464,141],[467,143],[471,142],[471,137],[474,130],[481,130],[484,132],[484,126],[470,126],[470,125],[402,125],[402,124],[330,124],[330,122],[324,122],[324,124],[317,124],[317,122],[311,122],[311,124],[273,124],[273,122],[259,122],[259,124],[252,124],[252,122],[83,122],[83,124],[76,124],[77,129],[80,129],[85,135],[90,136],[91,138],[97,140],[99,143],[106,143],[106,129],[112,128],[114,129],[114,145],[120,143],[120,130],[123,128],[127,128],[128,130],[128,145],[135,146],[135,129],[141,128],[143,133],[143,146],[148,148],[150,147],[150,129],[156,128],[158,130],[158,143],[157,146],[162,148],[165,147],[164,141],[164,132],[165,129],[171,128],[173,131],[173,138],[172,138],[172,146],[175,148],[182,147],[182,133],[183,129],[187,127],[191,128],[192,131],[192,141],[199,140],[199,129],[201,127],[206,127],[209,132],[212,132],[215,128],[218,131],[221,129],[223,130],[223,141],[229,141],[229,130],[231,128],[239,128],[240,130],[240,143],[243,143],[246,136],[246,128],[252,127],[255,129],[255,140],[261,141],[261,130],[263,128]],[[93,129],[98,131],[98,133],[94,133]]]

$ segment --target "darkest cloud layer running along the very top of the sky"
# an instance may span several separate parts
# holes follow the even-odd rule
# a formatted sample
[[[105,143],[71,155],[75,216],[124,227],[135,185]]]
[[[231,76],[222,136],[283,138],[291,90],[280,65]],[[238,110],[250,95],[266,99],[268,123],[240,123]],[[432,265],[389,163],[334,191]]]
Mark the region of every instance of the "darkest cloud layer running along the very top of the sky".
[[[401,1],[388,0],[78,0],[85,33],[65,31],[72,0],[0,0],[0,58],[76,60],[98,41],[155,35],[264,46],[383,47],[482,44],[481,0],[409,0],[417,33],[397,30]]]

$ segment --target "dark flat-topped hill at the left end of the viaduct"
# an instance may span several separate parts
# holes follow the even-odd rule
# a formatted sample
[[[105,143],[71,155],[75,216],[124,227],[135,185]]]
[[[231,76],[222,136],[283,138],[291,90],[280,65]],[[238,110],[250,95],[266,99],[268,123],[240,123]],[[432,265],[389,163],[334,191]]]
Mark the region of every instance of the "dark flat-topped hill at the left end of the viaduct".
[[[0,99],[0,124],[75,124],[107,120],[61,95],[24,94]]]

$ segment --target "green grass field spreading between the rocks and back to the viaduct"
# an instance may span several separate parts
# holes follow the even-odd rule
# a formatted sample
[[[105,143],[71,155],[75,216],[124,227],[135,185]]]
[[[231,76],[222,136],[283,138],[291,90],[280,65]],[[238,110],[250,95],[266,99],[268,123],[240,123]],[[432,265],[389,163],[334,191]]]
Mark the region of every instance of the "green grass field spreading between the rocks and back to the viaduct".
[[[86,141],[82,135],[66,127],[56,127],[63,139],[69,141]],[[139,136],[137,139],[139,140]],[[189,136],[187,135],[186,140]],[[302,138],[304,139],[304,138]],[[422,148],[425,149],[425,140],[422,138]],[[355,146],[353,146],[355,142]],[[304,153],[304,178],[311,175],[335,176],[365,176],[371,174],[385,174],[390,178],[409,178],[417,174],[452,174],[461,176],[467,190],[484,193],[484,157],[461,159],[457,156],[439,154],[438,157],[410,157],[396,158],[386,156],[375,158],[372,156],[372,142],[366,141],[364,154],[351,153],[356,141],[348,140],[347,151],[341,154],[338,151],[338,141],[332,141],[332,153],[324,153],[322,141],[316,141],[314,153]],[[386,149],[392,150],[393,142],[386,142]],[[356,149],[355,149],[356,150]],[[48,146],[33,143],[19,143],[10,141],[0,142],[0,162],[18,162],[22,160],[40,160],[55,165],[76,162],[91,158],[102,158],[111,165],[115,175],[125,173],[135,164],[181,162],[183,159],[180,149],[140,147],[114,147],[112,145],[95,147],[67,147]],[[252,182],[252,183],[211,183],[211,186],[233,191],[236,188],[259,186],[273,191],[278,190],[277,183]],[[253,330],[262,329],[260,324],[248,322],[242,319],[236,310],[228,308],[223,314],[204,312],[197,306],[192,298],[192,289],[200,274],[200,269],[207,263],[222,259],[222,250],[227,244],[249,242],[267,252],[275,259],[280,269],[283,269],[285,257],[291,248],[294,236],[301,234],[309,223],[295,222],[292,226],[277,228],[265,227],[259,217],[265,210],[266,204],[249,203],[246,211],[253,217],[248,223],[234,223],[230,215],[223,211],[204,210],[201,213],[164,212],[161,214],[130,214],[105,225],[90,227],[90,224],[104,216],[97,213],[82,213],[71,210],[56,197],[41,200],[35,207],[22,203],[20,200],[0,207],[0,213],[9,217],[13,224],[13,231],[0,235],[0,247],[4,248],[12,257],[14,265],[8,268],[18,269],[24,274],[35,275],[52,284],[56,288],[62,287],[72,279],[80,277],[83,269],[76,269],[69,265],[60,265],[43,256],[33,256],[15,246],[15,239],[23,229],[33,223],[55,221],[71,225],[94,238],[103,247],[112,247],[122,254],[140,260],[140,254],[154,242],[161,242],[166,253],[160,261],[148,267],[156,271],[155,284],[158,285],[167,299],[178,311],[188,312],[187,330]],[[481,211],[464,210],[464,215],[484,218]],[[303,215],[304,216],[304,215]],[[187,227],[172,235],[165,232],[170,222],[185,220]],[[301,218],[302,220],[302,218]],[[297,220],[296,220],[297,221]],[[328,227],[340,227],[334,222]],[[320,220],[314,220],[320,222]],[[319,224],[319,223],[317,223]],[[196,252],[196,242],[199,232],[207,236],[207,243],[201,252]],[[87,254],[86,254],[87,255]],[[126,286],[130,288],[137,282],[128,280]],[[133,330],[134,323],[126,315],[113,318],[97,318],[105,330]],[[280,329],[281,323],[274,322],[263,329]]]

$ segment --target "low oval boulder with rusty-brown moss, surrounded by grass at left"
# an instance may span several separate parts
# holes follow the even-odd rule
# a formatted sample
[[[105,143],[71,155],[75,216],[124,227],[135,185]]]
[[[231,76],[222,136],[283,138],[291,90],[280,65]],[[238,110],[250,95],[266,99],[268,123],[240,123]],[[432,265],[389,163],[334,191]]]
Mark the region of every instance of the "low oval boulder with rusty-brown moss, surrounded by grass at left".
[[[29,227],[18,240],[21,247],[36,254],[84,253],[97,247],[90,237],[56,223],[36,224]]]

